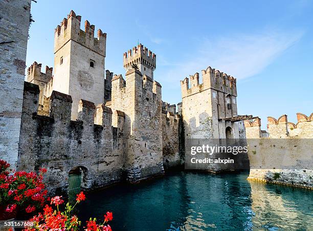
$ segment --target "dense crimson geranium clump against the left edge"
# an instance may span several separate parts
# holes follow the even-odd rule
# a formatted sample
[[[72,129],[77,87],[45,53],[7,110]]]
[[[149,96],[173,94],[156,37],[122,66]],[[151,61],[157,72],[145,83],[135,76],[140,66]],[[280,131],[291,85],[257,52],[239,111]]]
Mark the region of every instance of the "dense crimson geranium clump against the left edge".
[[[26,213],[32,213],[43,206],[47,190],[42,179],[47,170],[40,169],[39,174],[36,174],[9,171],[9,167],[10,164],[0,160],[0,205],[5,207],[7,216],[16,212],[17,206]]]

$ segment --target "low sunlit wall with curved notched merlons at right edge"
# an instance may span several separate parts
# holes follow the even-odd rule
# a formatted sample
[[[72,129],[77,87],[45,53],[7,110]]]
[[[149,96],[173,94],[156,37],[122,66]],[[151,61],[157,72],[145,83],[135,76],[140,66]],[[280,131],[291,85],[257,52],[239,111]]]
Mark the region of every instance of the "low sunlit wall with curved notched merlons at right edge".
[[[250,159],[249,179],[313,189],[313,121],[297,113],[297,125],[267,118],[269,137],[261,135],[261,120],[244,121]]]

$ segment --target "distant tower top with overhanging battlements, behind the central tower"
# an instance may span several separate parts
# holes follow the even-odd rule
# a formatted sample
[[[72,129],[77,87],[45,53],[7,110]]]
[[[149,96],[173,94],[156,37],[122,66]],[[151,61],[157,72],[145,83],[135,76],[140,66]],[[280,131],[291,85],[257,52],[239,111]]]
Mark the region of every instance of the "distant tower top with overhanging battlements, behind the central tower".
[[[132,64],[137,64],[139,71],[153,80],[153,71],[157,67],[157,56],[141,43],[133,47],[132,51],[124,53],[124,68],[127,71],[132,69]]]

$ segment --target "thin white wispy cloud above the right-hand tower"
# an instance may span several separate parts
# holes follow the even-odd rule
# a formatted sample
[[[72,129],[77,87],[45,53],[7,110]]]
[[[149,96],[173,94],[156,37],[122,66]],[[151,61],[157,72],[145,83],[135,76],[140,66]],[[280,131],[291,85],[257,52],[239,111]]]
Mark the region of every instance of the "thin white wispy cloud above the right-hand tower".
[[[185,60],[169,63],[159,57],[159,64],[166,65],[162,71],[162,76],[168,77],[164,78],[165,82],[177,83],[209,65],[237,79],[244,79],[260,73],[302,35],[303,32],[285,33],[267,29],[255,34],[203,38],[197,41],[198,47]]]

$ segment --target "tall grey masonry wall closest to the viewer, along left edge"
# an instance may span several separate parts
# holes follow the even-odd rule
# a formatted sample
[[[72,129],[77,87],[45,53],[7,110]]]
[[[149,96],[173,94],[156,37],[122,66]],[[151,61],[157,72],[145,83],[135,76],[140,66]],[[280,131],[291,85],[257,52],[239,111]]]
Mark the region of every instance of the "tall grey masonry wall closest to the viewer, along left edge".
[[[16,168],[31,0],[0,1],[0,159]]]

